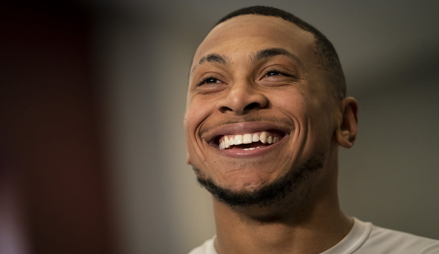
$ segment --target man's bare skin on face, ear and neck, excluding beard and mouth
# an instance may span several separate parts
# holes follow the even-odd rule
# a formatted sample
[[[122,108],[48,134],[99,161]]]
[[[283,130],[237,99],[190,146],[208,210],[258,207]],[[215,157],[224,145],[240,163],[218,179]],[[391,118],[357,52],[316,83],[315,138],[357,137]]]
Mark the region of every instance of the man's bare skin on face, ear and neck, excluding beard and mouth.
[[[337,155],[339,145],[354,143],[358,107],[352,97],[335,98],[314,41],[311,33],[281,18],[241,15],[213,28],[194,55],[184,128],[187,162],[199,177],[248,192],[316,154],[324,159],[322,169],[269,207],[230,208],[213,198],[219,254],[320,253],[353,226],[338,204]],[[255,59],[273,48],[296,59],[283,54]],[[200,62],[214,53],[225,62]],[[265,127],[285,132],[270,149],[259,150],[266,152],[230,154],[212,144],[218,135]]]

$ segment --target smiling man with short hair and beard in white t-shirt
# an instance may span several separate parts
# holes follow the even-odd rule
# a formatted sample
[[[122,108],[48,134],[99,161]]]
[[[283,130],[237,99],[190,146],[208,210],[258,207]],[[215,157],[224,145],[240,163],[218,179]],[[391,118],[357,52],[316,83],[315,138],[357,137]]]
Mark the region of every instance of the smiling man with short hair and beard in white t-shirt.
[[[343,214],[338,146],[357,102],[331,43],[292,14],[248,7],[195,52],[184,127],[188,160],[213,195],[216,236],[191,254],[439,253],[439,241]]]

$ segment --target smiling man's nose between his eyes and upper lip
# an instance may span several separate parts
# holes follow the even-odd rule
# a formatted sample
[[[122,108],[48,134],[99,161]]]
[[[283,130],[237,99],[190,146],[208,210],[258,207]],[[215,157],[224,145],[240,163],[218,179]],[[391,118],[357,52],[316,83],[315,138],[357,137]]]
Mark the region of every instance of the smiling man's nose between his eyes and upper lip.
[[[221,112],[233,111],[237,115],[254,109],[265,108],[268,100],[261,91],[257,91],[251,82],[236,82],[225,91],[226,94],[217,102]]]

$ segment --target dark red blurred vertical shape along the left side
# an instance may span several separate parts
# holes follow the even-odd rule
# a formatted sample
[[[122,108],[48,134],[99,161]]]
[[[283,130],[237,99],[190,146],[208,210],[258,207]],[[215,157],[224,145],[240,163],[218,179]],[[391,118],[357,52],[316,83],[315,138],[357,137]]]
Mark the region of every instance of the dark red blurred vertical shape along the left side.
[[[93,13],[39,2],[1,16],[0,177],[18,190],[30,253],[114,253]]]

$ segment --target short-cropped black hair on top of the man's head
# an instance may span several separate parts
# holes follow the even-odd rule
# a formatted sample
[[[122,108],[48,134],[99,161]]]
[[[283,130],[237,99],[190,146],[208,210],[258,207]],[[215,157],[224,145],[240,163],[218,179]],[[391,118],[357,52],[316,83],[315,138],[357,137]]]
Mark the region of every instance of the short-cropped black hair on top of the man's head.
[[[320,58],[322,67],[326,71],[331,83],[335,86],[336,92],[341,93],[342,97],[346,96],[345,75],[343,74],[342,65],[340,64],[340,60],[338,59],[337,52],[335,51],[334,46],[332,46],[332,43],[326,38],[325,35],[317,30],[317,28],[309,25],[305,21],[297,18],[287,11],[268,6],[252,6],[233,11],[221,18],[216,23],[216,25],[223,23],[230,18],[246,14],[279,17],[286,21],[290,21],[291,23],[297,25],[299,28],[302,28],[305,31],[312,33],[314,35],[314,38],[316,39],[315,55]]]

